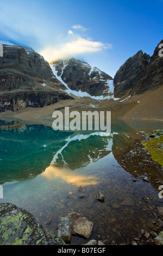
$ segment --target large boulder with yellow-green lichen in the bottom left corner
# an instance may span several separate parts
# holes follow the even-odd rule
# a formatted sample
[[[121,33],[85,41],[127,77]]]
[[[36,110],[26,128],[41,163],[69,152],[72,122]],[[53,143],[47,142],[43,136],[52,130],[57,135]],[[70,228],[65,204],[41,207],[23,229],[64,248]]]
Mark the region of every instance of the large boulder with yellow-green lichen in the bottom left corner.
[[[0,245],[65,245],[36,222],[34,216],[14,204],[0,204]]]

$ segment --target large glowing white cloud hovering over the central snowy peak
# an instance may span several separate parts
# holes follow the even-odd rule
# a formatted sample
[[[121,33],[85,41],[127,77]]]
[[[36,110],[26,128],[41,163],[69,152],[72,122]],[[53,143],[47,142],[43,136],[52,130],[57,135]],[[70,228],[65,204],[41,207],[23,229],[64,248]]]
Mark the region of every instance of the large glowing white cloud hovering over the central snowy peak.
[[[103,42],[92,41],[78,36],[75,40],[65,43],[60,48],[46,47],[40,54],[48,61],[76,57],[84,53],[92,53],[111,48],[112,45]]]

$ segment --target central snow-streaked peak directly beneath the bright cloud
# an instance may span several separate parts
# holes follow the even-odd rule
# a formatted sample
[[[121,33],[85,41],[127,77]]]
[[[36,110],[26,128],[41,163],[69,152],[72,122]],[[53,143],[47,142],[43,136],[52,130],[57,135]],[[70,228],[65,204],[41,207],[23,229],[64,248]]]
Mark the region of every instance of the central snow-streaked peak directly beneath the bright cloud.
[[[71,90],[86,92],[91,96],[108,95],[109,83],[113,79],[98,68],[92,68],[86,62],[74,58],[51,64],[54,72],[56,71],[55,75]]]

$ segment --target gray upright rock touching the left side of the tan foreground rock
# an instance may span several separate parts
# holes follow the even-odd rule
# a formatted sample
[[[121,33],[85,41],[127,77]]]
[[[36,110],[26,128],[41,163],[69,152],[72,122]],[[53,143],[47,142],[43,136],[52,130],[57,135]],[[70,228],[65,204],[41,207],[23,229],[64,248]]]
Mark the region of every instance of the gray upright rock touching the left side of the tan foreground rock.
[[[71,241],[71,234],[72,222],[69,220],[69,218],[61,217],[58,228],[58,237],[68,243]]]

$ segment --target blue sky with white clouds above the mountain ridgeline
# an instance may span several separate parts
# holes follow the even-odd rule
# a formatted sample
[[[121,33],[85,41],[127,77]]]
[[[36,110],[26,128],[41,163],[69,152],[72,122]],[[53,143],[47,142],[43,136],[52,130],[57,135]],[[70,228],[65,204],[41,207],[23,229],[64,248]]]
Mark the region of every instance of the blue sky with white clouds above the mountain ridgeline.
[[[162,0],[0,0],[0,40],[32,47],[49,62],[80,58],[114,77],[137,51],[153,54],[162,10]]]

